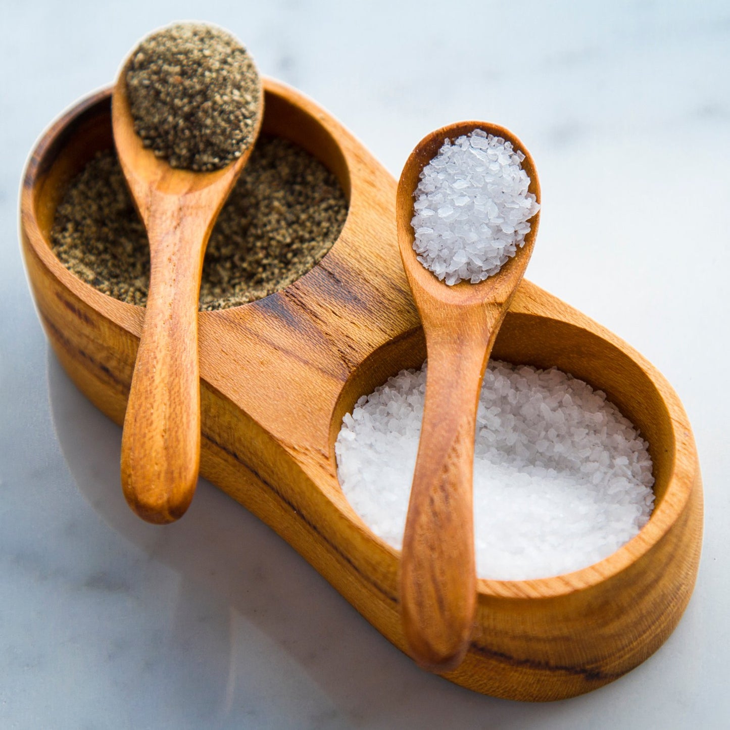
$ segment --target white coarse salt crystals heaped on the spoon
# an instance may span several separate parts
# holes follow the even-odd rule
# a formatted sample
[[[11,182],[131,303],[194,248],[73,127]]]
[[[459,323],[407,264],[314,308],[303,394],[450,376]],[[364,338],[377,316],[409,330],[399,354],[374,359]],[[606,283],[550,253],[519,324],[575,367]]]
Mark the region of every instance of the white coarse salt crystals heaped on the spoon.
[[[525,155],[482,129],[445,140],[415,189],[413,248],[448,285],[479,283],[522,247],[539,210]]]

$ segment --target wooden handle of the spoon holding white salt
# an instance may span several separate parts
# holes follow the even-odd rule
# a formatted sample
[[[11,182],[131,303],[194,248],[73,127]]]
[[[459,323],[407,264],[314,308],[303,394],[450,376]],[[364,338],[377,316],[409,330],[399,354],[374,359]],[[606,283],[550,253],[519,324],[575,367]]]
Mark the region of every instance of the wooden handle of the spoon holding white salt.
[[[401,608],[416,661],[435,672],[458,666],[474,622],[474,434],[492,339],[482,326],[461,328],[450,340],[429,340],[426,332],[426,402],[403,540]]]

